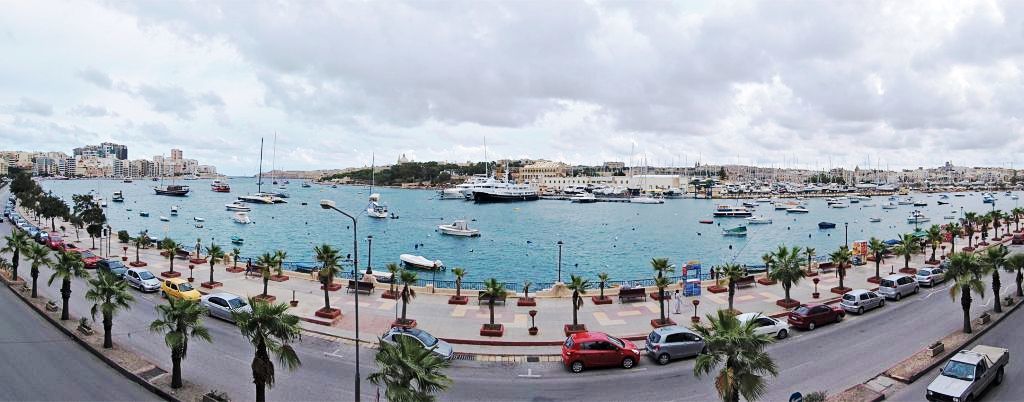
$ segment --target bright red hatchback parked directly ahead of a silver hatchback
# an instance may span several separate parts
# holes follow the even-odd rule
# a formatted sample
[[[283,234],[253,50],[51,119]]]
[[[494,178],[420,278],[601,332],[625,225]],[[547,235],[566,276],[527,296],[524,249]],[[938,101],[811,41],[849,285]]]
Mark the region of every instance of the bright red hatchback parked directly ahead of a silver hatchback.
[[[632,368],[639,361],[636,345],[603,332],[573,333],[562,344],[562,364],[572,372],[590,367]]]

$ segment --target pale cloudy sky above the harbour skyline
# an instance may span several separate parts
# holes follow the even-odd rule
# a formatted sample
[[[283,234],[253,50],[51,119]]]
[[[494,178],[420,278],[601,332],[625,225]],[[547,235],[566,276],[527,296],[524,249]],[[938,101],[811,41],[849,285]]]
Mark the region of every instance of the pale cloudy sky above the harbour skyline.
[[[0,0],[0,149],[1024,165],[1021,1]],[[272,146],[276,133],[275,155]],[[267,164],[269,165],[269,164]]]

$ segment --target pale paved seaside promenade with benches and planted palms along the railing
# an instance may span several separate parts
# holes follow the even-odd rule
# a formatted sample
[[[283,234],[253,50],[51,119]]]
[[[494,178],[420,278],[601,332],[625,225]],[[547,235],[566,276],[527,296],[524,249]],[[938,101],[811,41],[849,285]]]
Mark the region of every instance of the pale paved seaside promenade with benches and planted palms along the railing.
[[[58,224],[59,226],[59,224]],[[69,226],[70,227],[70,226]],[[66,238],[75,238],[75,234],[68,233]],[[83,233],[84,234],[84,233]],[[1005,239],[1009,241],[1009,237]],[[76,241],[79,247],[88,248],[91,242],[87,238]],[[966,245],[966,239],[957,239],[957,245]],[[115,243],[112,252],[121,253],[122,247],[127,244]],[[946,250],[949,244],[945,243]],[[141,260],[148,263],[146,267],[155,274],[168,269],[166,258],[161,257],[158,250],[142,250]],[[830,251],[819,251],[820,254],[827,254]],[[911,267],[921,267],[927,257],[930,257],[931,249],[927,254],[919,254],[910,262]],[[129,261],[134,260],[133,248],[128,249]],[[902,257],[887,259],[882,264],[882,275],[885,276],[890,271],[902,267]],[[182,272],[182,277],[188,276],[188,262],[176,259],[174,268]],[[229,266],[229,265],[228,265]],[[240,266],[244,266],[240,264]],[[262,293],[263,282],[258,276],[246,277],[243,273],[230,273],[225,271],[226,266],[218,264],[215,267],[215,280],[223,283],[217,292],[229,292],[247,297],[256,296]],[[200,282],[209,279],[209,264],[197,265],[193,271],[195,283],[198,287]],[[876,285],[867,281],[867,278],[874,274],[874,263],[853,267],[847,270],[845,284],[852,288],[873,288]],[[324,293],[319,289],[319,282],[314,281],[309,274],[288,272],[289,280],[283,282],[270,281],[268,294],[276,297],[279,302],[297,300],[298,307],[292,309],[293,314],[306,320],[303,326],[311,331],[325,334],[337,336],[341,338],[355,338],[354,309],[355,301],[352,294],[344,289],[331,293],[331,306],[339,308],[343,316],[334,323],[322,324],[314,321],[324,321],[315,317],[314,313],[324,305]],[[472,276],[472,271],[469,272]],[[829,288],[839,285],[839,278],[835,272],[822,273],[817,276],[820,282],[817,289],[820,293],[819,299],[814,299],[815,285],[811,278],[805,278],[792,289],[793,299],[803,303],[823,302],[838,297],[831,294]],[[343,282],[344,280],[339,280]],[[596,278],[592,278],[592,283],[596,283]],[[696,298],[684,298],[680,314],[675,314],[674,302],[666,301],[665,309],[667,315],[680,324],[688,324],[693,315],[693,300],[698,300],[697,315],[703,317],[719,309],[728,307],[727,294],[712,294],[707,286],[715,282],[706,281],[701,296]],[[723,281],[724,285],[725,282]],[[362,294],[359,297],[359,329],[360,339],[364,341],[375,341],[376,337],[383,333],[400,314],[401,304],[394,300],[382,298],[383,292],[388,284],[379,283],[373,294]],[[670,291],[679,288],[679,283],[674,283]],[[208,292],[201,288],[202,292]],[[658,303],[648,297],[647,301],[620,303],[617,298],[612,298],[613,303],[608,305],[595,305],[590,296],[597,296],[598,289],[593,288],[587,293],[584,307],[579,311],[579,321],[586,324],[588,329],[605,331],[621,337],[642,337],[651,329],[650,321],[658,318]],[[614,295],[617,289],[606,291],[606,294]],[[648,287],[646,293],[656,293],[656,288]],[[515,298],[510,295],[508,304],[495,307],[495,321],[505,325],[505,334],[501,338],[481,337],[480,326],[488,321],[488,310],[486,304],[478,305],[475,299],[476,291],[469,291],[471,295],[468,305],[450,305],[449,296],[454,294],[454,289],[434,289],[428,287],[417,287],[416,298],[408,306],[408,317],[416,319],[420,328],[426,329],[434,336],[451,340],[459,345],[456,350],[467,353],[494,353],[494,354],[534,354],[551,353],[550,345],[557,345],[564,340],[562,326],[572,322],[572,311],[569,299],[565,297],[538,297],[536,307],[517,307]],[[682,293],[680,293],[682,294]],[[532,293],[531,293],[531,296]],[[775,302],[782,299],[783,292],[779,284],[764,285],[756,284],[746,288],[736,291],[734,299],[735,309],[741,312],[762,312],[765,314],[775,314],[784,312],[784,309],[775,305]],[[537,310],[536,325],[539,328],[537,336],[530,336],[527,328],[530,326],[528,312]],[[496,344],[497,342],[497,344]],[[509,345],[503,345],[508,343]],[[517,345],[516,345],[517,344]],[[514,350],[498,348],[500,346],[517,346]]]

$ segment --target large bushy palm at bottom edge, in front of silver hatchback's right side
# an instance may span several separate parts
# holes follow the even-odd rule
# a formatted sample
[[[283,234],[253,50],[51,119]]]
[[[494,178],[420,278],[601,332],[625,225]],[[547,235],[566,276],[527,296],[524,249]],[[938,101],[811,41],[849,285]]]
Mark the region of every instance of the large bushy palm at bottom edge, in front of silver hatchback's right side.
[[[771,337],[755,333],[755,329],[753,320],[741,323],[724,310],[719,310],[717,316],[708,314],[707,326],[693,327],[708,350],[697,355],[693,374],[702,376],[722,366],[715,377],[715,389],[723,401],[738,402],[740,395],[749,401],[757,400],[768,389],[764,376],[778,375],[775,362],[765,352]]]

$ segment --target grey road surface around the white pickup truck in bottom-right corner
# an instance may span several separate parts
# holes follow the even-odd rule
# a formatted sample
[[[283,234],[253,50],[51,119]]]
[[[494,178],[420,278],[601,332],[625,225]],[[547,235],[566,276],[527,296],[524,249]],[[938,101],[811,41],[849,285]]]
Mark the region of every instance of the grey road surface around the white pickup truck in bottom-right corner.
[[[1002,385],[990,388],[979,401],[1019,401],[1024,399],[1024,367],[1021,367],[1020,355],[1024,353],[1024,316],[1020,312],[1014,312],[1008,319],[1000,322],[994,328],[981,336],[968,349],[975,345],[997,346],[1010,350],[1010,363],[1007,364],[1007,381]],[[886,400],[892,401],[921,401],[925,398],[925,390],[936,376],[941,368],[935,368],[929,373],[909,386],[897,391]]]

